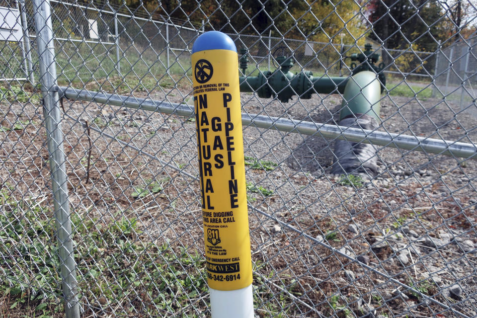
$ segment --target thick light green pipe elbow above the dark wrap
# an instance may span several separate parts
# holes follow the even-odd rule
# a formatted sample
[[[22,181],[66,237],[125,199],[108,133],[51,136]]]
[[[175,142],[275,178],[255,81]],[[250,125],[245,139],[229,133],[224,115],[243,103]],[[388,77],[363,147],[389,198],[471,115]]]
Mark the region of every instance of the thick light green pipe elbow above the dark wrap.
[[[380,100],[381,84],[376,73],[359,72],[346,83],[339,119],[365,114],[379,122]]]

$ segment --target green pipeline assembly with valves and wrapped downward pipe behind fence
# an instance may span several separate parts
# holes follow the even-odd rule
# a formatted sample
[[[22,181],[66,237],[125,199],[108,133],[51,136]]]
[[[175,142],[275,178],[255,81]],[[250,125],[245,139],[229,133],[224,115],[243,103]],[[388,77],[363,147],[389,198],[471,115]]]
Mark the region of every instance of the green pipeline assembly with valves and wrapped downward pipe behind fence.
[[[240,68],[245,74],[247,69],[246,50],[240,50]],[[375,130],[380,123],[381,89],[386,84],[384,65],[375,63],[379,59],[373,53],[371,45],[366,45],[363,53],[352,55],[351,77],[313,77],[313,73],[303,71],[293,74],[290,69],[294,65],[291,57],[279,56],[276,61],[280,67],[274,72],[265,71],[258,76],[240,77],[240,91],[256,92],[258,97],[278,97],[288,102],[294,95],[309,99],[314,92],[321,94],[341,93],[343,102],[339,113],[338,125]],[[376,149],[373,145],[337,140],[334,150],[332,173],[373,176],[377,171]]]

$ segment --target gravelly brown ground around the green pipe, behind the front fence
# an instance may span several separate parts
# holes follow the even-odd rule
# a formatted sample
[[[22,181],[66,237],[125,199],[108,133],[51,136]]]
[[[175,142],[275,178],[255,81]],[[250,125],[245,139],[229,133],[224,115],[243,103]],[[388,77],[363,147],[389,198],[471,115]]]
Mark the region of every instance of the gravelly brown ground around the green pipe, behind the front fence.
[[[188,91],[150,97],[183,102]],[[249,113],[326,124],[335,124],[340,106],[338,95],[280,103],[242,93],[241,100]],[[457,104],[386,96],[381,105],[380,131],[476,139],[476,118]],[[105,223],[138,216],[140,239],[202,250],[195,122],[84,101],[64,106],[73,211]],[[2,121],[29,121],[22,130],[0,132],[0,180],[15,185],[17,196],[48,193],[37,107],[12,104]],[[88,136],[71,118],[92,128],[87,183]],[[329,174],[333,141],[255,127],[245,127],[243,137],[245,156],[276,164],[246,172],[247,182],[273,191],[249,193],[257,315],[272,316],[267,304],[279,303],[288,317],[457,317],[427,296],[476,315],[475,160],[377,147],[378,176],[351,184]],[[132,196],[154,182],[162,186],[159,193]]]

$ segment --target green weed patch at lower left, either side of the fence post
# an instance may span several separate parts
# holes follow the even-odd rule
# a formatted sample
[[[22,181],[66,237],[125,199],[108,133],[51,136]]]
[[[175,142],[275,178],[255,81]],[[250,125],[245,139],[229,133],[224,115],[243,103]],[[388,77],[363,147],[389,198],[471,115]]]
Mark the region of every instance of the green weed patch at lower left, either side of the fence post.
[[[51,211],[34,199],[16,201],[4,189],[0,203],[8,207],[0,213],[0,258],[9,268],[0,281],[0,298],[8,299],[10,310],[34,313],[24,317],[60,317],[64,307],[58,288],[56,230],[55,223],[46,217]],[[140,294],[143,304],[159,308],[161,315],[186,312],[191,298],[208,291],[202,255],[186,247],[173,250],[166,243],[157,246],[139,241],[141,223],[127,214],[123,211],[121,217],[107,224],[72,213],[75,258],[81,264],[77,268],[79,290],[88,291],[83,297],[91,304],[102,299],[131,306],[127,295]]]

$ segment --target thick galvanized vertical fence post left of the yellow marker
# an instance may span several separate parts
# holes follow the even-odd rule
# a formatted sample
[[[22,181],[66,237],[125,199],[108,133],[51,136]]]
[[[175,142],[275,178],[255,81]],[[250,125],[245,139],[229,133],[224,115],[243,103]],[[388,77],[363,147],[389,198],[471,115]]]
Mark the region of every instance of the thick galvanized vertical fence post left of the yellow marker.
[[[79,318],[76,262],[73,252],[72,224],[68,200],[61,112],[58,105],[55,47],[49,0],[33,0],[33,15],[37,33],[40,64],[40,83],[43,96],[43,115],[47,134],[51,169],[53,203],[57,226],[63,295],[67,318]]]

